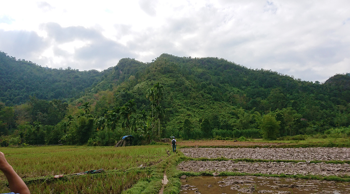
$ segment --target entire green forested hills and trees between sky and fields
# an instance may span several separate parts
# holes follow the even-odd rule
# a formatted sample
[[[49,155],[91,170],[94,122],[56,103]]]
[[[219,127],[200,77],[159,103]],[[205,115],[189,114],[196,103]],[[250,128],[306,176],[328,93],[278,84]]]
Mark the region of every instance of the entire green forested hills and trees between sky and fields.
[[[162,54],[103,72],[0,53],[1,145],[350,135],[350,74],[325,83],[219,58]]]

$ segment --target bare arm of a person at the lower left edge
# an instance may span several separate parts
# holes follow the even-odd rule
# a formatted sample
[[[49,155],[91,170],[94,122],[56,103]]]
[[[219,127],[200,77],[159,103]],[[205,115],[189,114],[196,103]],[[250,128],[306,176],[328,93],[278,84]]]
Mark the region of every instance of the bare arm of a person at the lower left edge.
[[[21,177],[13,170],[12,166],[6,161],[5,155],[0,151],[0,170],[5,174],[10,191],[20,194],[30,194],[27,185]]]

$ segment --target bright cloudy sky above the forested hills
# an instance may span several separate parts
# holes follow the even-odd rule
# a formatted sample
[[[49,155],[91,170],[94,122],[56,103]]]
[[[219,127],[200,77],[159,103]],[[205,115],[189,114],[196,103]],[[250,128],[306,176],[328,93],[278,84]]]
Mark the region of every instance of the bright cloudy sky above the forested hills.
[[[322,83],[350,72],[350,1],[2,1],[0,51],[80,71],[218,57]]]

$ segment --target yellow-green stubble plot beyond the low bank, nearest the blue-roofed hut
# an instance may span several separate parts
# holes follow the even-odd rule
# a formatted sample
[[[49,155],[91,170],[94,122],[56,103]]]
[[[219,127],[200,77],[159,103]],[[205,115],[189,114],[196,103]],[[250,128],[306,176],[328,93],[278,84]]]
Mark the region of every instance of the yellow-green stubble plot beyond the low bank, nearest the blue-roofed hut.
[[[35,178],[88,170],[126,170],[149,166],[167,157],[166,146],[2,148],[20,177]],[[168,148],[170,150],[170,148]],[[5,180],[1,174],[0,180]]]

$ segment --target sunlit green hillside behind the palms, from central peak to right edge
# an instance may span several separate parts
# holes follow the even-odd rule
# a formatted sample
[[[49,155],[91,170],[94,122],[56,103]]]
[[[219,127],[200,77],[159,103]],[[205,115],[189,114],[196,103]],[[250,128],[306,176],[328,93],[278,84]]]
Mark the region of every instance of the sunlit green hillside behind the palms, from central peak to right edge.
[[[151,110],[147,90],[160,82],[164,86],[162,107],[166,110],[162,123],[173,132],[182,130],[185,119],[192,130],[199,130],[205,118],[218,129],[259,128],[259,117],[276,112],[285,120],[281,120],[285,125],[281,135],[350,124],[350,99],[344,97],[349,90],[333,85],[295,80],[271,70],[252,70],[218,58],[162,54],[150,64],[139,65],[146,67],[114,85],[114,99],[109,104],[103,103],[102,94],[90,98],[96,117],[103,116],[103,109],[111,110],[130,99],[135,99],[139,110]],[[89,101],[88,97],[84,99]]]

